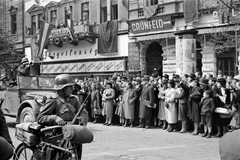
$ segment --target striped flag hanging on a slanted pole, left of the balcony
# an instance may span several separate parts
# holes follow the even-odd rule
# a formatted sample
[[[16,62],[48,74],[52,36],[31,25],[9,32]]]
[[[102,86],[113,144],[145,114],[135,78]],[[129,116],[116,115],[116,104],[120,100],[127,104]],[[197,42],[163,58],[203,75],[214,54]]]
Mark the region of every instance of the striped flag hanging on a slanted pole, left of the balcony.
[[[52,24],[46,23],[44,21],[40,22],[40,37],[39,37],[39,49],[38,49],[38,57],[43,57],[43,49],[47,44],[48,37],[53,28]]]

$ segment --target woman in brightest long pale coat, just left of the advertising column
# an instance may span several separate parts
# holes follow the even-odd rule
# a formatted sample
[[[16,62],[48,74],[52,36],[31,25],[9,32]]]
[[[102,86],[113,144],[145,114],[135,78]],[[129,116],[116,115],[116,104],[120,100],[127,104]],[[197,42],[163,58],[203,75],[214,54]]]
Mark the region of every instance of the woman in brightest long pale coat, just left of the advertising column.
[[[177,123],[175,92],[175,82],[173,80],[169,80],[168,88],[165,90],[165,116],[168,123],[168,132],[172,132],[173,126]]]

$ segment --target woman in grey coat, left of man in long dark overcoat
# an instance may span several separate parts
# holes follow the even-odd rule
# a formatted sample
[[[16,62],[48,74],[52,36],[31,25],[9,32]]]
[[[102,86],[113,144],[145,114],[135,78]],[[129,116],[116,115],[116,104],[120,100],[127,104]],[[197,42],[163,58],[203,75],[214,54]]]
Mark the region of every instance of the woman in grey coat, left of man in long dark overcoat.
[[[137,93],[133,89],[133,84],[130,82],[128,83],[128,90],[126,91],[126,97],[127,97],[127,104],[124,105],[124,115],[125,115],[125,125],[127,126],[128,120],[130,120],[130,127],[133,127],[133,120],[134,120],[134,110],[135,110],[135,104],[134,102],[137,99]]]

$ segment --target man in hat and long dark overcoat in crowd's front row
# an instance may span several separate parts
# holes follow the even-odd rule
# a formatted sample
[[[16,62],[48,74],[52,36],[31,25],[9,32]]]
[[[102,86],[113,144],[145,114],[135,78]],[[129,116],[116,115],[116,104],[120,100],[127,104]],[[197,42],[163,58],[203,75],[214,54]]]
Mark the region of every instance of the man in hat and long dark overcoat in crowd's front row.
[[[152,118],[155,95],[152,85],[149,83],[150,77],[143,77],[143,90],[140,96],[140,107],[139,107],[139,118],[140,118],[140,128],[149,128],[150,120]],[[149,102],[149,107],[146,105],[146,102]]]

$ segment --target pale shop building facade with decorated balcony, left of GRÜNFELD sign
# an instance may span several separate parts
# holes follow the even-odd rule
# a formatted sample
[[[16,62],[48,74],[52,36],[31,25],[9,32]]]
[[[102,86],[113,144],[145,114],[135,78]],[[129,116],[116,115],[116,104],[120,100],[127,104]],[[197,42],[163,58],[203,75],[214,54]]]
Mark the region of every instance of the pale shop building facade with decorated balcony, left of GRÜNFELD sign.
[[[31,30],[27,40],[32,59],[36,61],[33,42],[38,40],[40,21],[44,19],[54,25],[39,62],[42,74],[69,73],[84,77],[89,73],[104,76],[127,70],[128,10],[124,1],[49,1],[45,5],[32,5],[27,13],[26,25]],[[100,53],[98,30],[107,21],[117,22],[117,50]]]

